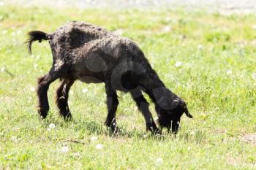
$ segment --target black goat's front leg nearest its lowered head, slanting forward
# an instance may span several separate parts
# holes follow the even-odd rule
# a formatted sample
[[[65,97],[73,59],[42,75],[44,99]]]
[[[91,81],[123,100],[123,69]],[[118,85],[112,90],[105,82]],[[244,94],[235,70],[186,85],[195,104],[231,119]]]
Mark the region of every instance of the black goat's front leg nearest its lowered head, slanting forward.
[[[132,98],[135,100],[138,109],[142,112],[143,117],[146,121],[146,131],[151,131],[152,134],[161,134],[159,129],[157,128],[156,123],[154,123],[154,119],[152,117],[151,112],[149,111],[149,104],[144,98],[143,94],[140,90],[136,89],[131,92]]]

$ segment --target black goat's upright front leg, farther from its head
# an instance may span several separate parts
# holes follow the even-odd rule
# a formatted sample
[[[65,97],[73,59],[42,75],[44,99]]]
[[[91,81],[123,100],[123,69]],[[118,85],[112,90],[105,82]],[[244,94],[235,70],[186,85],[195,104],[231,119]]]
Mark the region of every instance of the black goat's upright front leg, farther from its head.
[[[105,83],[105,90],[107,93],[107,106],[108,106],[108,116],[105,120],[105,125],[111,128],[113,133],[119,131],[116,125],[116,109],[118,107],[118,98],[116,90],[113,90],[110,82]]]

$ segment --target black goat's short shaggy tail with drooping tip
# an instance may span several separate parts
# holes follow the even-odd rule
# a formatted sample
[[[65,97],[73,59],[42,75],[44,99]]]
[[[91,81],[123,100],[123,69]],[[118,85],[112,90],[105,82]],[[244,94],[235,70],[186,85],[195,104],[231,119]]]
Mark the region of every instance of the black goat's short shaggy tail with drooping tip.
[[[32,53],[31,46],[33,42],[35,41],[42,42],[42,40],[48,40],[50,39],[50,36],[51,36],[50,34],[46,34],[45,32],[42,32],[42,31],[30,31],[29,39],[27,39],[25,42],[28,44],[29,53],[30,54]]]

